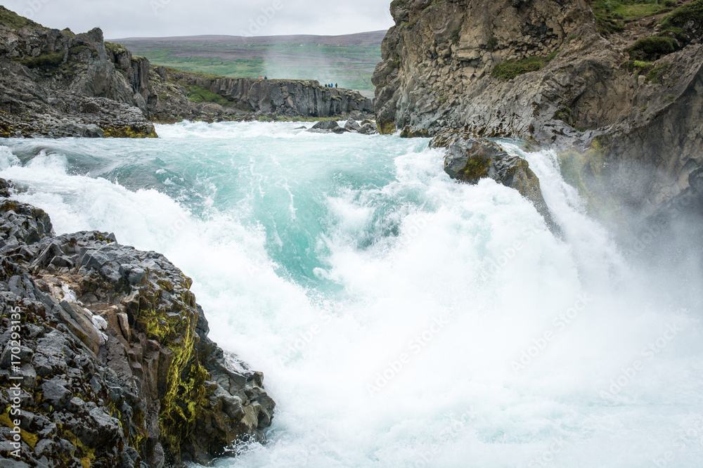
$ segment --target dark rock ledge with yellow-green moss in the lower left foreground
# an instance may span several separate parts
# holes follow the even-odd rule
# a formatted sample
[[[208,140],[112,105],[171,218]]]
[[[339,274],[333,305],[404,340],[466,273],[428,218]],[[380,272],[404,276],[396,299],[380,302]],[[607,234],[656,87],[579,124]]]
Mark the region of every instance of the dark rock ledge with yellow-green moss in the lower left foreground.
[[[0,464],[163,467],[265,442],[263,376],[208,338],[191,280],[108,233],[55,236],[0,181]]]

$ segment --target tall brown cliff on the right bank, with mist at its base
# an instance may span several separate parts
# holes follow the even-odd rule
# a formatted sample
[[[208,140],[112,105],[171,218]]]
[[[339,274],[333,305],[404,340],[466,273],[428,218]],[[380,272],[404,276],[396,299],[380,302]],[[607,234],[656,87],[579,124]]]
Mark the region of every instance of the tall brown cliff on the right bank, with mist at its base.
[[[592,212],[635,235],[672,205],[700,211],[703,0],[394,0],[391,13],[373,79],[382,133],[555,148]]]

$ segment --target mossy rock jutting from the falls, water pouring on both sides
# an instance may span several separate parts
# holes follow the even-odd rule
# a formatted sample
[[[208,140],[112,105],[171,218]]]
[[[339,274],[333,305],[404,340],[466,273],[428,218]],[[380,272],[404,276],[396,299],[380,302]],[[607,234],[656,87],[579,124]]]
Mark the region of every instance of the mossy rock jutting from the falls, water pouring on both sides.
[[[463,131],[449,131],[434,137],[430,148],[446,149],[444,171],[449,177],[465,183],[492,178],[514,188],[534,204],[550,229],[559,233],[544,201],[539,179],[522,157],[510,155],[496,143],[485,138],[474,138]]]

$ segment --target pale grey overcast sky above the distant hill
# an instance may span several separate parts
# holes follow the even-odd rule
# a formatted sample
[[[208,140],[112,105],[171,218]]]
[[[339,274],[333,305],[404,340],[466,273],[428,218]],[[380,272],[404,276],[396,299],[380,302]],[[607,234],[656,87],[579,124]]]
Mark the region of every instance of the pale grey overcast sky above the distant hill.
[[[105,37],[337,35],[387,30],[390,0],[0,0],[46,27]],[[258,24],[257,24],[258,23]]]

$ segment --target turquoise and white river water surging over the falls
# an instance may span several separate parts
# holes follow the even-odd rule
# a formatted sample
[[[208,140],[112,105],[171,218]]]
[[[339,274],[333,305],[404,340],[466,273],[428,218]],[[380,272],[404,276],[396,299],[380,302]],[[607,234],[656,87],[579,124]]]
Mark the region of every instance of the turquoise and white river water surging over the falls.
[[[164,252],[264,372],[269,444],[218,467],[702,466],[699,290],[629,265],[553,152],[502,143],[563,239],[426,140],[297,126],[0,141],[20,200]]]

